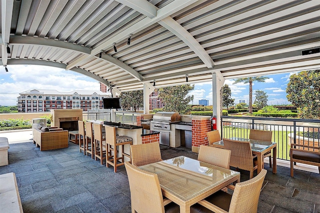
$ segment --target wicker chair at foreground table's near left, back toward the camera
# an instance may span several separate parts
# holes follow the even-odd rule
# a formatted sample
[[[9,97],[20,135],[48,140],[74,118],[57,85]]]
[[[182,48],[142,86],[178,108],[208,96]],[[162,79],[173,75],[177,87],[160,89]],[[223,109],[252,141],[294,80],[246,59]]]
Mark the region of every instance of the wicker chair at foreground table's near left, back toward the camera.
[[[124,162],[129,180],[131,212],[179,213],[179,206],[162,196],[158,176]]]

